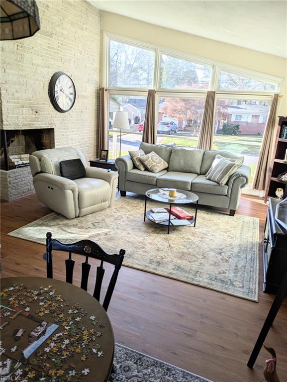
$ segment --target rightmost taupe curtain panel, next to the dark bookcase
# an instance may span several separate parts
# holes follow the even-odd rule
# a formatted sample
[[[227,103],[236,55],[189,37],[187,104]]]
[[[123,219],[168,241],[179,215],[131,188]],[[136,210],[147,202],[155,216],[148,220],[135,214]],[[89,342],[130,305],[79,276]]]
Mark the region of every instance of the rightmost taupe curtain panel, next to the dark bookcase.
[[[261,144],[261,150],[255,170],[252,188],[258,191],[266,190],[270,174],[274,135],[276,134],[276,115],[278,94],[274,94],[267,118],[267,123]]]

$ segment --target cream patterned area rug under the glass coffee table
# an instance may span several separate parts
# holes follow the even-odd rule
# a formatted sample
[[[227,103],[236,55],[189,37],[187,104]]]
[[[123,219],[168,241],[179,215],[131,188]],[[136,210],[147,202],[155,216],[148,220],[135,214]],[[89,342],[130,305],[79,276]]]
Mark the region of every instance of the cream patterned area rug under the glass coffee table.
[[[143,198],[118,196],[103,211],[75,219],[52,212],[9,235],[41,244],[48,231],[64,243],[91,239],[108,253],[125,249],[128,267],[258,300],[258,218],[199,207],[195,228],[173,226],[167,235],[143,214]]]

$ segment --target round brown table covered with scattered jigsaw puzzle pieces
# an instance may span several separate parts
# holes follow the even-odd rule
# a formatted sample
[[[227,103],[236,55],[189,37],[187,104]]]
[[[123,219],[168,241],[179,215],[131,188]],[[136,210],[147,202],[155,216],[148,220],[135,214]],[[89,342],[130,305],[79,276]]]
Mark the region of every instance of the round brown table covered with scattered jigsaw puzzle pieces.
[[[3,377],[108,380],[112,327],[100,303],[85,290],[54,279],[1,279],[0,314]]]

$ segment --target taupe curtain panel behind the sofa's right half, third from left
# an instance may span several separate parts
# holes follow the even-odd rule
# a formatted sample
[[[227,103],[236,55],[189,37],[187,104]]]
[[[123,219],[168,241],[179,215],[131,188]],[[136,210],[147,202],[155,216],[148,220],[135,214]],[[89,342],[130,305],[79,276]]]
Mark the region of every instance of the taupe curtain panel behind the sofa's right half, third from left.
[[[200,125],[197,147],[202,150],[211,150],[213,141],[215,92],[207,92],[202,121]]]

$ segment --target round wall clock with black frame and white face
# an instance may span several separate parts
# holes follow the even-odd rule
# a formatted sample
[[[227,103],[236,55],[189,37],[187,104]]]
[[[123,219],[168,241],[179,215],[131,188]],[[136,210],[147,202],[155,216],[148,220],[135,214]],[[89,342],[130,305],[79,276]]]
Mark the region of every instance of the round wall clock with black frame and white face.
[[[71,110],[76,100],[76,88],[71,77],[64,72],[54,73],[49,82],[49,97],[60,113]]]

